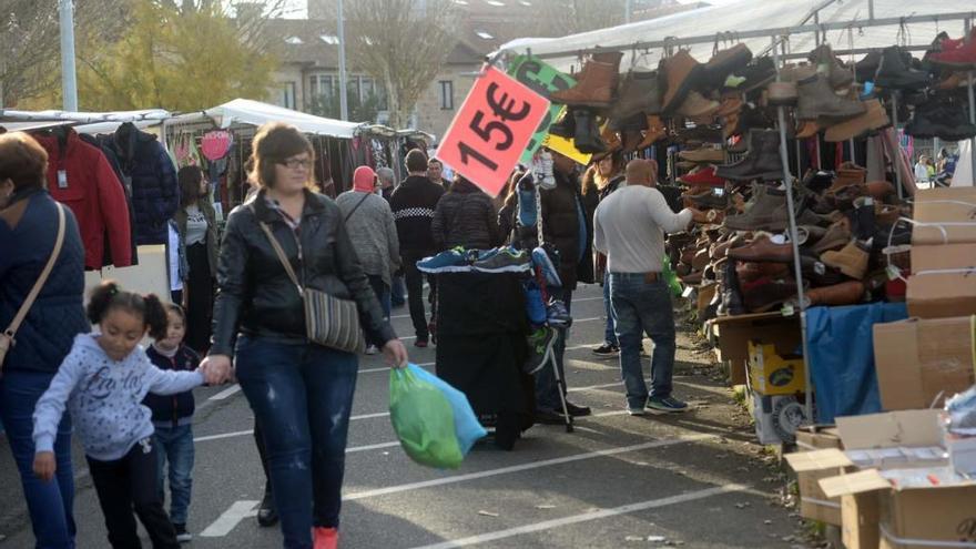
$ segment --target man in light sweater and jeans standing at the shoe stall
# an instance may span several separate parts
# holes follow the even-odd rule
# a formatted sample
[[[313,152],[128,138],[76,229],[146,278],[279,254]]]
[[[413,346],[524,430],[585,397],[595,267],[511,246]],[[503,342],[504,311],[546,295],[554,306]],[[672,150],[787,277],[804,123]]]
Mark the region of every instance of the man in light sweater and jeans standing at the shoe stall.
[[[620,372],[627,409],[633,416],[643,415],[645,408],[665,413],[688,408],[671,395],[675,336],[671,291],[662,275],[664,233],[706,221],[697,210],[672,212],[654,189],[657,174],[654,161],[632,160],[627,164],[627,186],[604,199],[593,218],[593,247],[607,255]],[[650,395],[640,363],[644,333],[654,342]]]

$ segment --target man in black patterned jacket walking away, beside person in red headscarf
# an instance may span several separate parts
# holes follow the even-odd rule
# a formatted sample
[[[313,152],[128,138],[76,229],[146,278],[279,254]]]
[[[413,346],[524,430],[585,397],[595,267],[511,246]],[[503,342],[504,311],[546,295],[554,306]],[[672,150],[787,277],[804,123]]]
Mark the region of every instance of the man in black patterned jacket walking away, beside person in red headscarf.
[[[408,152],[406,164],[409,176],[396,187],[389,206],[396,220],[410,319],[417,334],[414,345],[426,347],[430,339],[430,327],[427,326],[427,313],[424,311],[424,277],[417,270],[417,262],[436,253],[430,223],[434,210],[444,195],[444,187],[427,179],[427,155],[424,151],[414,149]],[[429,282],[433,303],[436,288],[434,279]]]

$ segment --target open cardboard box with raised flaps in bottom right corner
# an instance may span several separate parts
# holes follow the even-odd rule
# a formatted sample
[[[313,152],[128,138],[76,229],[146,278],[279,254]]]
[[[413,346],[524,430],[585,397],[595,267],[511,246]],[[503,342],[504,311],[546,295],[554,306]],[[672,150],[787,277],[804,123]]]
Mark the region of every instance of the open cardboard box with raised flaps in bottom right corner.
[[[826,478],[820,485],[827,497],[877,495],[882,549],[976,548],[976,481],[948,468],[870,469]],[[851,529],[857,525],[852,517]]]

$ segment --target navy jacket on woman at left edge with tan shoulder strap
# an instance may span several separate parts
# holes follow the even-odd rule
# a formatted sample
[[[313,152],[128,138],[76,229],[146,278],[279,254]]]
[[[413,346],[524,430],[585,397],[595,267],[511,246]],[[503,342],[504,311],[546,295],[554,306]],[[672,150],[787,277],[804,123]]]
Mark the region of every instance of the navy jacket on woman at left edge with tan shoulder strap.
[[[71,209],[64,243],[48,281],[17,332],[4,372],[53,374],[74,336],[91,329],[84,316],[84,248]],[[58,210],[43,189],[22,191],[0,210],[0,329],[6,329],[48,263],[58,236]]]

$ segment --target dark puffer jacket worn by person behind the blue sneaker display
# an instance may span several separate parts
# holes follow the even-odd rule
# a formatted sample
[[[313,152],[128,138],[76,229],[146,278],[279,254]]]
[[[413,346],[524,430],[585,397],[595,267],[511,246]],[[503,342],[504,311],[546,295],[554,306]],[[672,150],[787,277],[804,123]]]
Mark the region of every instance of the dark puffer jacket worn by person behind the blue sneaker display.
[[[437,203],[430,231],[438,251],[488,250],[501,240],[491,199],[465,180],[455,182]]]

